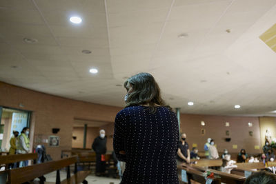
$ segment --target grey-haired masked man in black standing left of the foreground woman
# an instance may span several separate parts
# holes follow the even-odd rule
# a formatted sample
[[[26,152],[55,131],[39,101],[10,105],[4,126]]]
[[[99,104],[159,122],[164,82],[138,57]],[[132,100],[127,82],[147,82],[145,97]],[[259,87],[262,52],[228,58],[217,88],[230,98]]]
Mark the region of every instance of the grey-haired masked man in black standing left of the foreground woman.
[[[103,176],[106,172],[106,131],[99,131],[99,136],[95,138],[92,149],[96,152],[96,176]]]

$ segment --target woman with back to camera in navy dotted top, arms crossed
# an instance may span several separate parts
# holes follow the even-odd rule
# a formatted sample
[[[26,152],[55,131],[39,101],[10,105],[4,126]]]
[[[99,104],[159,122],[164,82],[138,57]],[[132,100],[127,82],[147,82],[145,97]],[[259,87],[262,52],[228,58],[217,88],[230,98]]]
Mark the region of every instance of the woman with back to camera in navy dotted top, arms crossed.
[[[175,112],[161,99],[151,74],[132,76],[124,86],[126,108],[115,118],[113,139],[117,159],[126,162],[121,184],[178,184]]]

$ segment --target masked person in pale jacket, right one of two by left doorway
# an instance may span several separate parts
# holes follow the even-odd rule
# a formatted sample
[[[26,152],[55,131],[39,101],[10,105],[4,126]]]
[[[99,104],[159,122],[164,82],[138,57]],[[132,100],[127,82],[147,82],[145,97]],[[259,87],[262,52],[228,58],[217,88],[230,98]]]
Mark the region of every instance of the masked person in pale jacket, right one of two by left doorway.
[[[17,144],[17,154],[27,154],[30,152],[30,139],[28,136],[29,128],[23,127]],[[28,166],[28,161],[21,161],[20,167],[22,166]]]

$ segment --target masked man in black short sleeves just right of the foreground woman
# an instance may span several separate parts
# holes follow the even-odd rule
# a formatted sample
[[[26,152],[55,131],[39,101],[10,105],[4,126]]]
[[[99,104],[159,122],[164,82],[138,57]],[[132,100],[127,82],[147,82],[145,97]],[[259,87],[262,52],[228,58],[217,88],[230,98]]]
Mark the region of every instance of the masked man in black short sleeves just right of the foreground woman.
[[[189,145],[186,142],[186,134],[181,134],[181,140],[178,143],[177,150],[177,163],[178,165],[182,162],[190,163],[190,150]]]

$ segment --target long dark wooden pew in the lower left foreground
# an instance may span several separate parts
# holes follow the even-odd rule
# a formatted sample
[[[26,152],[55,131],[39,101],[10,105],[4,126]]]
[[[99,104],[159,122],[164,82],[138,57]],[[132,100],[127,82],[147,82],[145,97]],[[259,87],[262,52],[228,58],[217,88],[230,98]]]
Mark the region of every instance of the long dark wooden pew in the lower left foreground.
[[[75,175],[70,176],[70,165],[75,164]],[[64,181],[60,180],[59,170],[63,167],[67,167],[67,177]],[[61,159],[59,161],[50,161],[47,163],[39,163],[37,165],[30,165],[27,167],[16,168],[8,170],[8,183],[18,184],[32,181],[34,178],[39,178],[44,174],[57,171],[56,183],[81,183],[85,181],[86,176],[90,174],[90,171],[77,172],[77,156],[72,156],[67,159]],[[41,181],[43,183],[43,181]],[[87,183],[87,182],[86,182]]]

